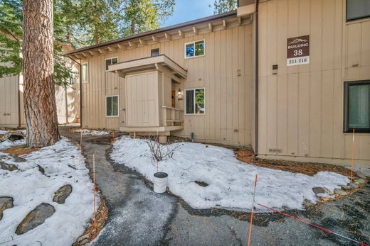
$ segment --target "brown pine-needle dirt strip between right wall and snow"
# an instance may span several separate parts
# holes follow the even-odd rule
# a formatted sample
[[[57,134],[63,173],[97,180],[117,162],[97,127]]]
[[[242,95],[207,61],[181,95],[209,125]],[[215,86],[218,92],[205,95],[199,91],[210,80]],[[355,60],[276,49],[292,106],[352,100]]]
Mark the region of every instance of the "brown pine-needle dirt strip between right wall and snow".
[[[248,164],[254,164],[258,167],[268,167],[271,169],[294,173],[299,172],[310,176],[313,176],[320,171],[336,172],[345,176],[351,175],[351,171],[349,169],[333,164],[259,159],[255,157],[252,150],[235,150],[235,155],[238,160]]]

